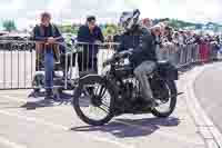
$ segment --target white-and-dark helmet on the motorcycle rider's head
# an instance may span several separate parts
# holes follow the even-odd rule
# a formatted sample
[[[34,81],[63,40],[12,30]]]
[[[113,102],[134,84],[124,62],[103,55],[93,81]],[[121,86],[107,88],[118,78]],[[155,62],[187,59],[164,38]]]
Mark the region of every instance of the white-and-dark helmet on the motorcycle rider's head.
[[[135,9],[133,11],[122,12],[120,17],[119,24],[125,30],[133,30],[134,27],[139,23],[140,10]]]

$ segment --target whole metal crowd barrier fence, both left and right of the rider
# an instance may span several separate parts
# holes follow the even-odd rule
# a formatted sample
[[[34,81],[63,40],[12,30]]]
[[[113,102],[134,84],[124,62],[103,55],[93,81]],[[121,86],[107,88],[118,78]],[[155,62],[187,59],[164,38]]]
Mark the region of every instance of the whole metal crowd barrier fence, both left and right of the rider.
[[[43,48],[39,46],[42,45]],[[44,53],[43,42],[0,40],[0,90],[6,89],[39,89],[44,87]],[[102,75],[102,63],[117,50],[119,43],[105,42],[89,45],[78,42],[65,45],[57,42],[54,51],[54,87],[72,89],[73,81],[85,73]],[[42,50],[44,49],[44,50]],[[218,49],[214,45],[168,45],[157,49],[159,60],[169,60],[178,68],[194,62],[215,60]],[[41,73],[41,75],[40,75]],[[39,79],[40,85],[34,83]]]

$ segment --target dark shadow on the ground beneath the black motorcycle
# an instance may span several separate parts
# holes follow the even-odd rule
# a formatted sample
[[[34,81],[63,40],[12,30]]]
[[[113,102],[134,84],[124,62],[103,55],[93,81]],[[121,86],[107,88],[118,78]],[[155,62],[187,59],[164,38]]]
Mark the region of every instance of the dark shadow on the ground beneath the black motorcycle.
[[[95,126],[82,126],[73,127],[72,131],[102,131],[109,132],[118,138],[128,138],[128,137],[142,137],[149,136],[164,127],[176,127],[180,125],[180,119],[171,118],[145,118],[145,119],[117,119],[109,125],[101,127]]]

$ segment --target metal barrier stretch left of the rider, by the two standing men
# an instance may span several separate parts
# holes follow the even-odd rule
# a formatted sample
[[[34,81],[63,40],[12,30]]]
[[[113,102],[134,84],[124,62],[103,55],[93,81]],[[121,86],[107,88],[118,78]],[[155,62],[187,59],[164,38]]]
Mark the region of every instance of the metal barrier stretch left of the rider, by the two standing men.
[[[38,46],[42,42],[0,40],[0,90],[40,89],[44,77],[44,51]],[[60,52],[54,52],[54,88],[72,88],[73,80],[85,73],[102,73],[102,62],[110,58],[118,43],[89,45],[78,42],[65,45],[57,42]],[[46,48],[46,47],[44,47]],[[61,50],[63,49],[63,50]],[[33,86],[34,79],[40,86]]]

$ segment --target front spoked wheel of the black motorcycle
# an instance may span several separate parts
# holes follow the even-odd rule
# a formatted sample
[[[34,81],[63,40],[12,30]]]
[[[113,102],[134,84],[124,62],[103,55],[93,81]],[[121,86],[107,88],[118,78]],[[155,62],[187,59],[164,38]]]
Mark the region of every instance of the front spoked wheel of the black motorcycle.
[[[113,91],[102,80],[95,80],[91,83],[93,85],[81,83],[75,88],[73,107],[84,122],[101,126],[109,122],[113,117]]]

